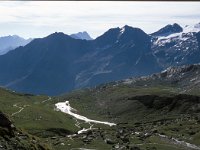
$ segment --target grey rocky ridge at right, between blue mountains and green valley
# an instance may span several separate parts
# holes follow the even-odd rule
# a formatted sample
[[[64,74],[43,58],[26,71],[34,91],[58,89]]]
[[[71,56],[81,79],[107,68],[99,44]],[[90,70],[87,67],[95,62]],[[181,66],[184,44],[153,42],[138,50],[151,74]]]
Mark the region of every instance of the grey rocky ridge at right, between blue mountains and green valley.
[[[177,87],[179,93],[200,95],[200,64],[169,67],[161,73],[141,78],[120,81],[132,86],[169,85]]]

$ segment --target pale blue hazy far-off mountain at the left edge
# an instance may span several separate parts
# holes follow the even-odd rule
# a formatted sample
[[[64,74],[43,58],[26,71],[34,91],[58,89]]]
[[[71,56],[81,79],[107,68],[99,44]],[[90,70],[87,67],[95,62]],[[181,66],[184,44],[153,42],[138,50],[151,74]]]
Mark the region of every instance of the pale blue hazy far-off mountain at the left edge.
[[[6,54],[19,46],[25,46],[32,39],[24,39],[17,35],[0,37],[0,55]]]

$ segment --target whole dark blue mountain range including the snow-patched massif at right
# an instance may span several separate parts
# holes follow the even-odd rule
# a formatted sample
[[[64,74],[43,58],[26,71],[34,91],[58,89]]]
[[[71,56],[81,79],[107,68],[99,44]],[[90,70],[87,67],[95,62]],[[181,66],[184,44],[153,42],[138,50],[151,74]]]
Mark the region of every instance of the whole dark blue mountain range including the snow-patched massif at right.
[[[53,33],[0,56],[0,85],[57,95],[170,66],[199,63],[200,28],[167,25],[152,34],[112,28],[94,40]]]

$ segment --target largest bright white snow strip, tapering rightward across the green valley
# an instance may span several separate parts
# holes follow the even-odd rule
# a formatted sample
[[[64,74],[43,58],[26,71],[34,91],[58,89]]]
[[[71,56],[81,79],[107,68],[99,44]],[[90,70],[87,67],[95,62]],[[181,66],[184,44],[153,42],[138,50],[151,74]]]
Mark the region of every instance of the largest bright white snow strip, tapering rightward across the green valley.
[[[87,123],[97,123],[97,124],[105,124],[105,125],[109,125],[109,126],[115,126],[115,123],[110,123],[110,122],[103,122],[103,121],[98,121],[98,120],[92,120],[92,119],[88,119],[87,117],[78,115],[76,113],[73,113],[73,111],[75,110],[74,108],[72,108],[69,104],[69,101],[66,102],[59,102],[55,104],[57,110],[64,112],[66,114],[69,114],[79,120],[83,120]]]

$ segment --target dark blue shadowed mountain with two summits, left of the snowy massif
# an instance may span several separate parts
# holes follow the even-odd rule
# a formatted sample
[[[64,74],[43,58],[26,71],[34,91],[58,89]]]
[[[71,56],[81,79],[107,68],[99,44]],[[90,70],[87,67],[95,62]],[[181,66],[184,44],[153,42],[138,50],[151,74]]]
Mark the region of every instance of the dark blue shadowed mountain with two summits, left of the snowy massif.
[[[0,56],[0,66],[1,85],[49,95],[159,70],[151,38],[129,26],[92,41],[54,33]]]

